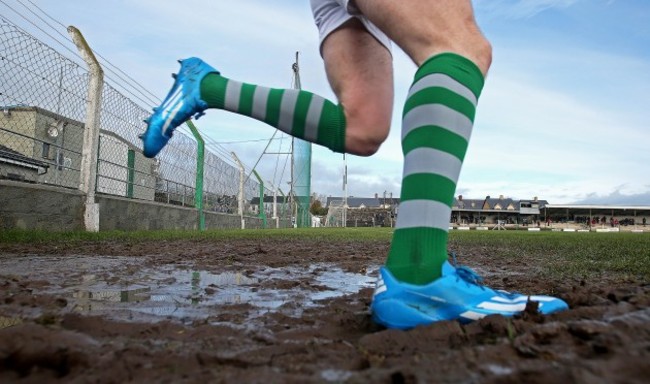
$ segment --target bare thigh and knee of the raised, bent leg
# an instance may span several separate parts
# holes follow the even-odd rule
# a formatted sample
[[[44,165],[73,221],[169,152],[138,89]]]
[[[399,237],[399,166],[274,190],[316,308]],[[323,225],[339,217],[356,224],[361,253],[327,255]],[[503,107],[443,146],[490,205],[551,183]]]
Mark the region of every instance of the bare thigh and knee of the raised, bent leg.
[[[329,82],[345,111],[346,152],[372,155],[390,130],[392,56],[357,19],[331,33],[322,54]]]

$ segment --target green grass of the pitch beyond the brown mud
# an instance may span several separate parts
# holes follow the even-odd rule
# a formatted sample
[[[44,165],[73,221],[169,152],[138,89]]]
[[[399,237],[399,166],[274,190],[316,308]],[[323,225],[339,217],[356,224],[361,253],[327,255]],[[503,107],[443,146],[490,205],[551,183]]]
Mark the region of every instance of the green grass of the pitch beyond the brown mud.
[[[65,243],[156,240],[310,239],[314,241],[390,241],[392,228],[305,228],[269,230],[0,232],[0,244]],[[452,231],[449,247],[461,257],[477,252],[498,264],[525,258],[534,261],[542,275],[593,278],[616,275],[650,281],[650,234],[527,231]]]

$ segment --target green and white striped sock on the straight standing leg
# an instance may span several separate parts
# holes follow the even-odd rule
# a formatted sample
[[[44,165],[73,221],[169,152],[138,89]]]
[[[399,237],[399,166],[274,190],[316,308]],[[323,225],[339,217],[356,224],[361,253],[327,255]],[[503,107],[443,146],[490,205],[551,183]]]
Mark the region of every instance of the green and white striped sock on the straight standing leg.
[[[483,75],[452,53],[429,58],[415,74],[402,115],[404,174],[386,267],[400,281],[441,275],[456,183],[469,144]]]

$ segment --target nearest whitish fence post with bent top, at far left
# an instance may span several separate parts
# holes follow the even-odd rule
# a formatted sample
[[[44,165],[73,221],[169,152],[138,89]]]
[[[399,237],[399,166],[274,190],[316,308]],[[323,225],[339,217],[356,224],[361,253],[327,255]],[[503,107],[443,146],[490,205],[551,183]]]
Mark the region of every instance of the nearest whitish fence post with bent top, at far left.
[[[99,204],[95,202],[95,186],[104,71],[81,32],[77,28],[69,26],[68,33],[88,65],[88,73],[90,74],[86,108],[86,127],[84,129],[84,141],[81,152],[79,190],[86,195],[84,209],[84,225],[86,230],[89,232],[97,232],[99,231]]]

